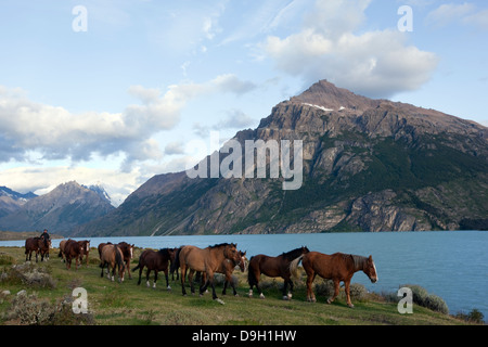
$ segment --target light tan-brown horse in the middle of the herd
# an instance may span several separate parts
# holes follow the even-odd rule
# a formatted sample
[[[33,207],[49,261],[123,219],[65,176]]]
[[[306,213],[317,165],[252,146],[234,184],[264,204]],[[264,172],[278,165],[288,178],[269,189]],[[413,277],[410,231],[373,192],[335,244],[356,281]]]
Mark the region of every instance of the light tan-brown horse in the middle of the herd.
[[[206,248],[198,248],[196,246],[183,246],[178,250],[177,261],[181,268],[181,290],[183,296],[187,295],[184,288],[184,279],[187,277],[187,270],[190,269],[189,279],[192,294],[195,293],[193,286],[193,272],[205,272],[207,280],[204,285],[200,287],[200,295],[207,290],[207,286],[211,286],[211,297],[214,300],[219,300],[215,293],[214,273],[220,267],[224,259],[230,259],[235,262],[239,261],[239,252],[235,244],[221,243]]]

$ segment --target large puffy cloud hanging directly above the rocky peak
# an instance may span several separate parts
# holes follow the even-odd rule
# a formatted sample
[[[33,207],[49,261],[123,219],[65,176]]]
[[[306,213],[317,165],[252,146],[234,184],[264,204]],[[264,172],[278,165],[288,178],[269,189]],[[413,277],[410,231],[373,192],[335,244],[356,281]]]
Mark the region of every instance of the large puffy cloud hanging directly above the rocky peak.
[[[415,90],[437,66],[434,53],[407,43],[396,29],[356,30],[365,20],[369,0],[318,0],[299,33],[269,36],[260,44],[277,68],[309,86],[326,78],[372,98]]]

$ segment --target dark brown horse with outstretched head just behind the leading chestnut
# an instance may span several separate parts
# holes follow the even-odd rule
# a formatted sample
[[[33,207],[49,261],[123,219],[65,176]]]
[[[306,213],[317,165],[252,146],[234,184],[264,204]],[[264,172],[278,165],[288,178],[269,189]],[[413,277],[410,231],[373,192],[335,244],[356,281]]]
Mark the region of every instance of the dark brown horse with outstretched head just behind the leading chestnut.
[[[309,253],[307,247],[299,247],[287,253],[283,253],[278,257],[269,257],[264,254],[251,257],[247,282],[249,283],[249,297],[253,297],[253,286],[259,293],[261,299],[265,298],[261,290],[259,288],[259,279],[261,273],[270,278],[281,277],[284,280],[283,285],[283,299],[287,300],[292,298],[293,281],[291,280],[290,265],[293,260],[301,257],[304,254]],[[290,284],[290,292],[286,293],[287,285]]]

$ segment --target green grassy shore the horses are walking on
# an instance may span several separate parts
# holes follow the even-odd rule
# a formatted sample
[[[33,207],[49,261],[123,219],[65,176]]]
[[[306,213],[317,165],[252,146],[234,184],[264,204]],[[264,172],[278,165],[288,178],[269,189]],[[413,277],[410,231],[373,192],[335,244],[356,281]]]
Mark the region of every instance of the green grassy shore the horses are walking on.
[[[346,306],[339,296],[332,305],[318,295],[318,303],[305,299],[305,285],[299,284],[290,301],[282,300],[280,281],[265,279],[266,299],[247,296],[246,273],[234,272],[239,280],[239,297],[221,296],[221,285],[217,291],[224,305],[211,299],[211,294],[183,297],[179,281],[171,281],[171,291],[166,290],[164,273],[159,274],[155,290],[145,286],[145,271],[142,284],[137,285],[139,271],[132,272],[132,280],[126,274],[123,283],[111,282],[100,277],[98,252],[90,252],[89,266],[78,270],[67,270],[57,258],[59,249],[51,252],[46,262],[25,265],[24,248],[0,247],[0,324],[22,324],[22,314],[33,307],[53,310],[46,322],[49,324],[102,324],[102,325],[451,325],[466,324],[465,321],[448,314],[431,311],[414,305],[412,314],[400,314],[396,303],[388,303],[382,296],[369,294],[358,300],[352,298],[355,308]],[[141,249],[137,249],[133,268]],[[15,267],[13,268],[13,265]],[[16,270],[15,270],[16,269]],[[18,269],[43,277],[21,278]],[[14,271],[15,270],[15,271]],[[17,271],[17,272],[16,272]],[[40,278],[40,280],[39,280]],[[354,279],[352,279],[354,280]],[[316,280],[316,282],[318,282]],[[29,283],[29,284],[26,284]],[[72,292],[84,287],[88,294],[88,314],[72,312]],[[23,300],[16,299],[20,291],[26,290]],[[1,294],[10,291],[11,294]],[[232,291],[228,290],[228,293]],[[62,303],[65,301],[63,306]],[[66,304],[67,303],[67,304]],[[29,305],[30,305],[29,304]],[[21,307],[22,305],[26,307]],[[42,306],[43,305],[43,306]],[[16,308],[18,306],[18,308]],[[61,309],[64,307],[65,309]],[[30,308],[35,310],[35,308]],[[13,312],[18,311],[17,316]],[[24,312],[24,313],[23,313]],[[61,312],[61,313],[60,313]],[[13,314],[13,316],[12,316]]]

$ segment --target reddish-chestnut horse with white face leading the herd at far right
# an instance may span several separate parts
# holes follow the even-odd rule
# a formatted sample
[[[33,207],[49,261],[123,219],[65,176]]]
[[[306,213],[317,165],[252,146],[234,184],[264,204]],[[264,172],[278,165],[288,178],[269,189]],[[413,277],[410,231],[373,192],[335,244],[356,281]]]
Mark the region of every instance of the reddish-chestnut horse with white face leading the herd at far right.
[[[373,257],[357,256],[351,254],[334,253],[326,255],[319,252],[310,252],[300,259],[295,259],[291,266],[293,273],[296,273],[298,262],[301,260],[305,272],[307,273],[307,299],[316,303],[316,295],[312,291],[312,282],[317,274],[334,282],[334,295],[328,299],[332,304],[339,293],[341,281],[344,282],[346,290],[346,304],[354,307],[350,301],[349,285],[352,275],[362,270],[375,283],[378,279]]]

